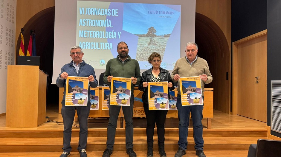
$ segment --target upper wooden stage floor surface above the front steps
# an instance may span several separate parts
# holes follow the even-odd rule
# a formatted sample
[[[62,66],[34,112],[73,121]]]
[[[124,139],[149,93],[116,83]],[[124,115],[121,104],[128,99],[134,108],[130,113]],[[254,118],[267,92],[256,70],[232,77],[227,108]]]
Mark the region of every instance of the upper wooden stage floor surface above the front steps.
[[[28,116],[28,114],[26,114]],[[266,123],[260,122],[254,119],[246,118],[239,115],[230,115],[221,111],[214,110],[212,118],[212,129],[265,129]],[[39,125],[37,128],[6,128],[6,116],[0,117],[0,130],[56,130],[63,129],[62,125],[62,115],[58,113],[57,106],[47,107],[46,116],[50,118],[51,121],[56,122],[46,122],[42,125]],[[18,117],[19,119],[21,117]],[[143,118],[134,118],[134,128],[145,128],[146,119]],[[108,119],[107,118],[89,118],[88,119],[88,128],[107,128]],[[122,122],[121,122],[122,124]],[[207,128],[207,118],[203,118],[202,124],[204,128]],[[74,123],[73,128],[79,126]],[[192,128],[192,125],[190,125]],[[178,128],[178,118],[167,118],[165,122],[165,128]]]

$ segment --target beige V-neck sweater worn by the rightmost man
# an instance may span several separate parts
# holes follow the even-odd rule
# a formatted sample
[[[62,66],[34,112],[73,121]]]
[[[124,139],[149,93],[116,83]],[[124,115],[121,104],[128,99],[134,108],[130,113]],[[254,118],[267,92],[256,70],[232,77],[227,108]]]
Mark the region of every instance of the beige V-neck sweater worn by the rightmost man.
[[[182,57],[178,59],[175,63],[174,70],[171,74],[171,78],[173,82],[177,82],[174,80],[175,74],[178,74],[180,77],[192,77],[192,76],[199,76],[202,74],[206,74],[208,79],[207,81],[201,80],[201,89],[202,89],[202,95],[204,95],[204,84],[208,84],[212,82],[213,77],[210,73],[209,66],[206,60],[203,58],[200,58],[197,56],[197,59],[194,60],[192,65],[190,66],[190,63],[186,60],[186,57]],[[181,91],[180,84],[178,82],[178,91]]]

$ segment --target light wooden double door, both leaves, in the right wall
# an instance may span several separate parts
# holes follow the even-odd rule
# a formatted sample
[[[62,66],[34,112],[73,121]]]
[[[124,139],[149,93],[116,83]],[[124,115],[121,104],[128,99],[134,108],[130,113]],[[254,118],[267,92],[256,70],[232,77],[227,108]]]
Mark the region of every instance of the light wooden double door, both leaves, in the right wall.
[[[237,46],[237,114],[266,122],[266,86],[267,35],[264,35]]]

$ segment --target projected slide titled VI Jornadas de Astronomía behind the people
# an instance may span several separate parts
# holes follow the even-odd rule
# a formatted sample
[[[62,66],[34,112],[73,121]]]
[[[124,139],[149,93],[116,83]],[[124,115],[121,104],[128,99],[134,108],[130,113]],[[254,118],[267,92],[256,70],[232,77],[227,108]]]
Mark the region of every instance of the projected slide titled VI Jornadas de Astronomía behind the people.
[[[83,60],[95,69],[105,69],[115,58],[117,44],[128,44],[129,56],[140,69],[152,52],[161,55],[161,67],[172,70],[180,58],[181,5],[77,1],[76,43]]]

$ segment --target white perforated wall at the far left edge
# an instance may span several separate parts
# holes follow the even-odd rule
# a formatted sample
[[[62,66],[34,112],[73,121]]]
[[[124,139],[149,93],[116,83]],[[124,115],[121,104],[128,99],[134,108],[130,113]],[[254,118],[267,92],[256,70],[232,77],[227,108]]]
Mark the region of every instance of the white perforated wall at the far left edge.
[[[6,112],[7,66],[15,64],[16,0],[0,1],[0,114]]]

